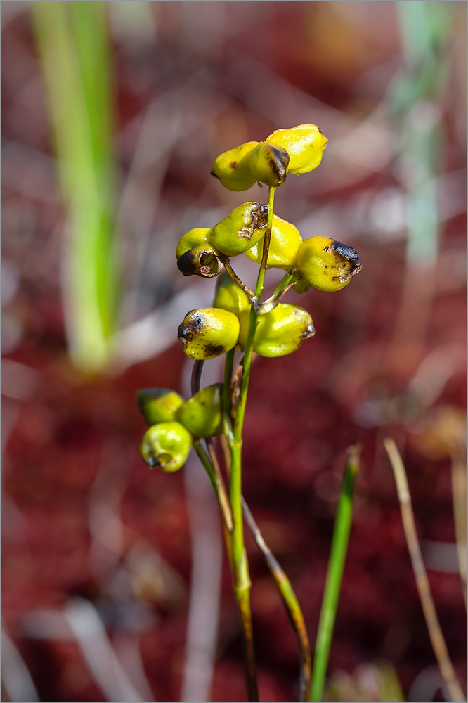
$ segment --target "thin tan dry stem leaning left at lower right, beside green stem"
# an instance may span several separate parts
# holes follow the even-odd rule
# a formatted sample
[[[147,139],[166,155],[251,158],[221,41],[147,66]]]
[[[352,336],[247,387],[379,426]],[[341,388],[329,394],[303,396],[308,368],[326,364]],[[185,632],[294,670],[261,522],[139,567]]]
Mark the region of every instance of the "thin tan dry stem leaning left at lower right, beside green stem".
[[[417,591],[420,594],[424,619],[426,620],[432,648],[436,655],[438,668],[441,671],[443,681],[450,699],[455,703],[466,701],[462,688],[453,669],[453,664],[447,650],[446,640],[443,637],[441,626],[438,621],[436,607],[429,586],[429,579],[422,560],[420,543],[417,538],[415,527],[415,515],[412,512],[410,490],[408,479],[406,478],[405,467],[401,460],[400,453],[393,439],[385,439],[384,446],[389,455],[391,467],[394,471],[398,500],[400,501],[401,519],[405,530],[408,551],[411,557],[412,569],[415,573]]]

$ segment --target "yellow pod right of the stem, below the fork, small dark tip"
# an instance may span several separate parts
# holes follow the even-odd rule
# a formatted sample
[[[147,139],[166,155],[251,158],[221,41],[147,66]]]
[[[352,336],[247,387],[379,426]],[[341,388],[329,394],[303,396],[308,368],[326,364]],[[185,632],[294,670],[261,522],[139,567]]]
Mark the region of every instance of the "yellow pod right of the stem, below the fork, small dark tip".
[[[239,322],[238,344],[245,347],[249,330],[249,311],[240,314]],[[313,320],[304,308],[280,303],[259,317],[254,337],[254,352],[270,357],[292,354],[299,349],[304,340],[313,337],[315,333]]]

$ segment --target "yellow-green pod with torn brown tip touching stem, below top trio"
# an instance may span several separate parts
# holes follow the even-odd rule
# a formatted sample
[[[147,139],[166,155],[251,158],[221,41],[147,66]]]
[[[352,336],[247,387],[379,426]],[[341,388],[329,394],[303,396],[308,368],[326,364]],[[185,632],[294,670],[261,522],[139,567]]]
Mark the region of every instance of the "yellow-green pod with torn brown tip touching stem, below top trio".
[[[212,245],[227,257],[243,254],[264,235],[268,205],[243,202],[212,229]]]

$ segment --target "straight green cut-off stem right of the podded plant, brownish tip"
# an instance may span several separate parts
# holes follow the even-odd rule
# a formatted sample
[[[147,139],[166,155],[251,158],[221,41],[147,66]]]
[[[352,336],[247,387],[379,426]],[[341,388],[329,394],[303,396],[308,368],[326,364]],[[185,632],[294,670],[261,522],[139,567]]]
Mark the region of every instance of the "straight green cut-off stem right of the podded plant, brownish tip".
[[[339,496],[337,516],[334,521],[332,550],[328,561],[327,580],[323,593],[322,609],[316,640],[316,651],[313,658],[312,684],[309,701],[322,700],[325,674],[327,673],[328,657],[334,621],[337,615],[339,591],[342,585],[344,561],[348,548],[351,517],[353,515],[353,491],[356,477],[360,468],[360,447],[353,446],[348,450],[344,467],[342,491]]]

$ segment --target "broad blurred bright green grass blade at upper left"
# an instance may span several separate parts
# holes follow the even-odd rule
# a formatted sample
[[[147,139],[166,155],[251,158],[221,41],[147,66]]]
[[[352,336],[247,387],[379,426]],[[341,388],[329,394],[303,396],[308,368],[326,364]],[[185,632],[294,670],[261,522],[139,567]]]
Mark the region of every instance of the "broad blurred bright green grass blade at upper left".
[[[63,295],[70,355],[86,371],[110,359],[115,330],[115,167],[105,4],[30,4],[48,94],[69,233]]]

